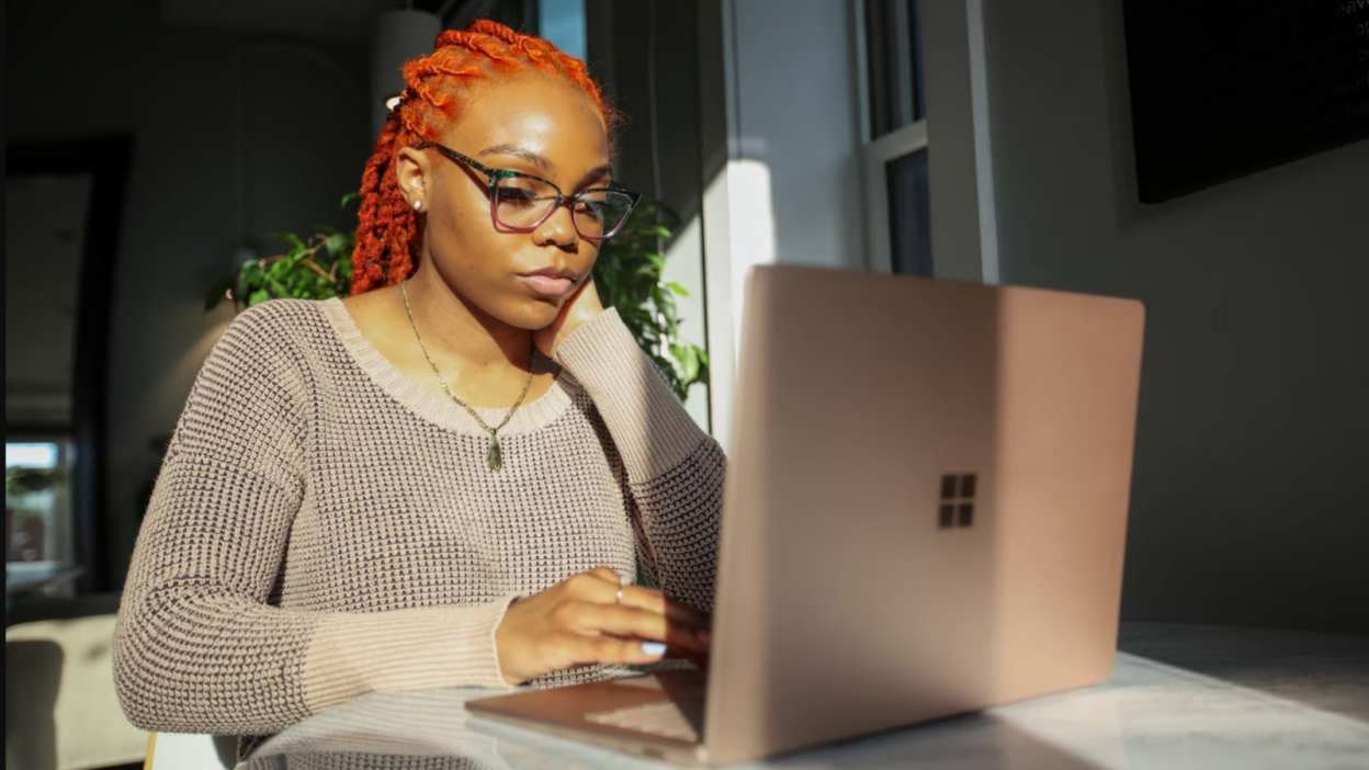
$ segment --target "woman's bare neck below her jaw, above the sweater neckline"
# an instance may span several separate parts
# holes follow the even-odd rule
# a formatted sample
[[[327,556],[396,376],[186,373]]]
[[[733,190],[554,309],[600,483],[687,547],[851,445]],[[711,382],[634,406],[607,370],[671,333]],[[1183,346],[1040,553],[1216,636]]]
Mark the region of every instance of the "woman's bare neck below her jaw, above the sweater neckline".
[[[531,366],[533,333],[509,326],[461,299],[424,262],[407,284],[413,322],[428,353],[465,371]]]

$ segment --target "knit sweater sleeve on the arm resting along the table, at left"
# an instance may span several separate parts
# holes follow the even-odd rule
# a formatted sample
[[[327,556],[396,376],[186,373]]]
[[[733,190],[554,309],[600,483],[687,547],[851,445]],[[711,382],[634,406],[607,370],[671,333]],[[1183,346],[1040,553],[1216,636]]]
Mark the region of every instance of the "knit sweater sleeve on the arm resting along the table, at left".
[[[271,303],[209,355],[157,477],[119,608],[119,700],[144,729],[264,734],[378,689],[504,688],[513,599],[381,612],[272,606],[307,495],[311,381]]]

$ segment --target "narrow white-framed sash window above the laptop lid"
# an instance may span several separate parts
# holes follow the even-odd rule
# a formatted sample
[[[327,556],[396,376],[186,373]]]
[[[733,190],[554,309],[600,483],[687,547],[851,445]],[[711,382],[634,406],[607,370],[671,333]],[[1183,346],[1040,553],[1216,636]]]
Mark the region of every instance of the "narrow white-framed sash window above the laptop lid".
[[[856,0],[871,267],[932,275],[920,0]]]

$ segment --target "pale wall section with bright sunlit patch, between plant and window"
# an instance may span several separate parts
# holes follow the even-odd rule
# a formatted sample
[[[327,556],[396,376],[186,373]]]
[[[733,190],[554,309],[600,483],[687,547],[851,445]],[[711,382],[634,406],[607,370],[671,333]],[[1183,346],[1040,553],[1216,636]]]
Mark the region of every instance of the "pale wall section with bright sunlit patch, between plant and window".
[[[834,0],[700,0],[713,436],[731,440],[742,278],[865,266],[856,37]]]

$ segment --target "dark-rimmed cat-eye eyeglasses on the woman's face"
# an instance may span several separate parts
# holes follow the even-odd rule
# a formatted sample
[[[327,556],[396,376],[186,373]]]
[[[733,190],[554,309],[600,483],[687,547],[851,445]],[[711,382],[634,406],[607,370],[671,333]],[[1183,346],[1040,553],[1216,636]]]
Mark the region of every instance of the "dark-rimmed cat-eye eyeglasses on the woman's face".
[[[561,188],[541,177],[489,169],[460,152],[428,141],[419,149],[434,148],[452,160],[465,163],[489,178],[490,219],[496,230],[531,233],[552,218],[561,206],[571,210],[575,232],[585,240],[602,241],[612,238],[627,223],[632,208],[642,193],[632,192],[616,182],[602,188],[583,189],[575,195],[561,193]]]

